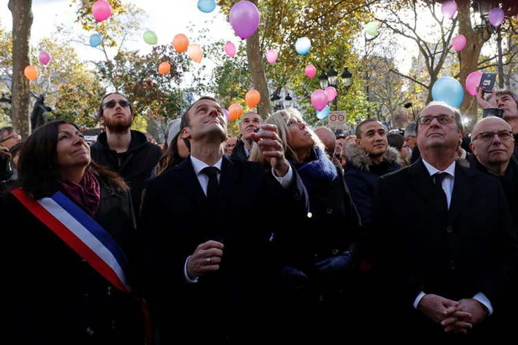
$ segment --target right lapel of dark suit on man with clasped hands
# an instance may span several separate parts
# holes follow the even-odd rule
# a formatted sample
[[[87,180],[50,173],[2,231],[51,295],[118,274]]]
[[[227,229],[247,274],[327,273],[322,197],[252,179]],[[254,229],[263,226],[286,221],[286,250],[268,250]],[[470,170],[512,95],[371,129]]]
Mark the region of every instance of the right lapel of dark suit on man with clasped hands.
[[[448,213],[448,224],[451,224],[461,210],[470,201],[476,186],[473,172],[462,168],[459,163],[455,163],[455,182],[453,184],[452,201],[450,202],[450,212]]]

